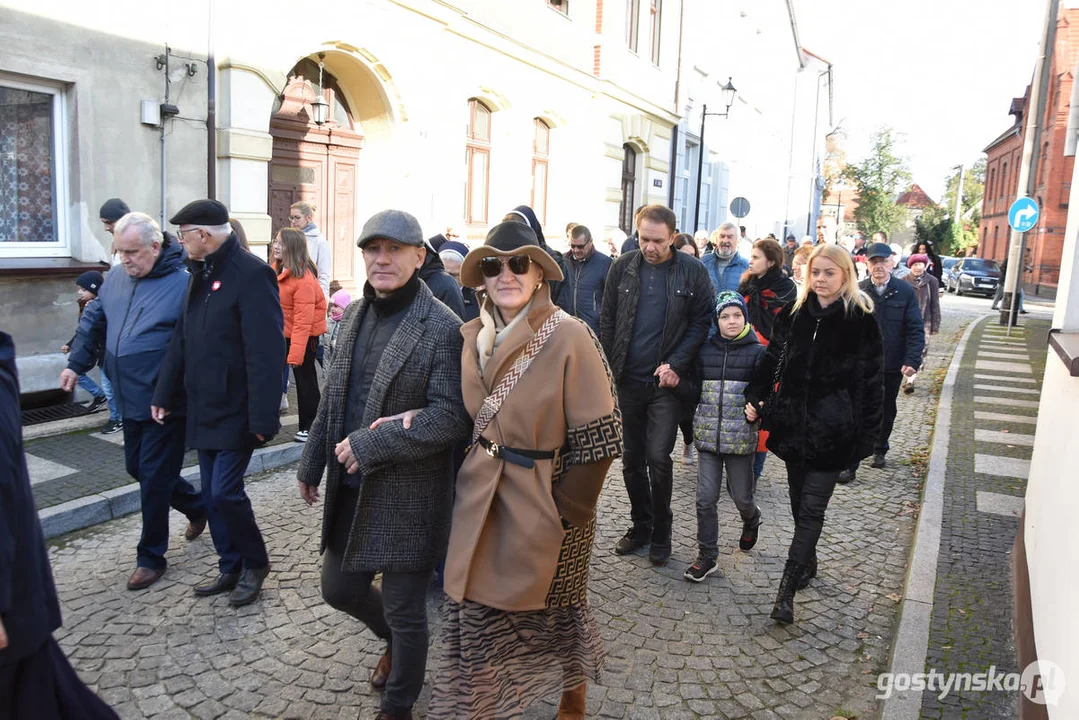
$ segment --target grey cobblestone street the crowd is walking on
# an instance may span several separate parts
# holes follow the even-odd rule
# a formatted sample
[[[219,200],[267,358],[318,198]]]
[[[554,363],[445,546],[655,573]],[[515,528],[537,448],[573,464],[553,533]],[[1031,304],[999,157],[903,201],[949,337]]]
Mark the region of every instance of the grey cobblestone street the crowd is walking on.
[[[589,717],[869,718],[876,676],[888,666],[920,478],[935,408],[933,370],[946,365],[962,328],[978,316],[945,303],[929,365],[900,415],[885,470],[863,465],[836,489],[821,538],[820,574],[798,593],[796,622],[768,613],[791,538],[786,475],[768,459],[759,491],[764,526],[756,547],[737,549],[740,521],[721,501],[721,573],[700,585],[682,572],[696,557],[696,468],[675,460],[674,552],[666,568],[611,548],[628,526],[620,465],[599,508],[591,603],[609,661],[588,690]],[[675,458],[681,456],[681,444]],[[169,570],[149,590],[124,589],[139,519],[131,516],[51,545],[65,627],[57,634],[82,677],[124,718],[366,718],[378,708],[368,685],[382,648],[319,596],[322,506],[306,507],[286,468],[250,478],[273,572],[259,602],[234,610],[191,588],[216,572],[208,536],[180,539],[174,515]],[[441,594],[428,599],[439,653]],[[420,717],[429,689],[416,710]],[[549,718],[557,697],[527,717]]]

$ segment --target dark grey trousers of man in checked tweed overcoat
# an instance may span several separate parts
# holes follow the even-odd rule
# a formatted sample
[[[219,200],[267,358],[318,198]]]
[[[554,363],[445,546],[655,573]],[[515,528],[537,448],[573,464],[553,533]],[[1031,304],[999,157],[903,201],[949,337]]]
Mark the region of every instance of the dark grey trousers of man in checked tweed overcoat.
[[[381,592],[372,585],[373,571],[342,571],[358,497],[357,488],[342,485],[338,490],[323,553],[323,599],[386,641],[393,662],[382,695],[382,710],[405,715],[420,696],[427,671],[427,587],[432,570],[383,572]]]

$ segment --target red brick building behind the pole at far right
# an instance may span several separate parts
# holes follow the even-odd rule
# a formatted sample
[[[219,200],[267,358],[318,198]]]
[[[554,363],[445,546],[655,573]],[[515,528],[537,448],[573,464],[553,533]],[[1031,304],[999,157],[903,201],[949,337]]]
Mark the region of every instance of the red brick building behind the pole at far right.
[[[1027,233],[1027,264],[1034,269],[1023,274],[1027,291],[1054,296],[1064,249],[1064,229],[1068,221],[1068,195],[1071,192],[1074,158],[1064,157],[1064,141],[1070,108],[1071,68],[1079,57],[1079,9],[1062,9],[1056,25],[1056,46],[1050,65],[1050,85],[1046,114],[1040,119],[1041,147],[1038,153],[1035,200],[1041,209],[1038,227]],[[1008,112],[1014,118],[1011,127],[986,146],[985,195],[982,200],[982,227],[978,255],[1003,260],[1008,256],[1008,207],[1019,194],[1019,166],[1023,155],[1024,118],[1029,106],[1030,89],[1013,98]]]

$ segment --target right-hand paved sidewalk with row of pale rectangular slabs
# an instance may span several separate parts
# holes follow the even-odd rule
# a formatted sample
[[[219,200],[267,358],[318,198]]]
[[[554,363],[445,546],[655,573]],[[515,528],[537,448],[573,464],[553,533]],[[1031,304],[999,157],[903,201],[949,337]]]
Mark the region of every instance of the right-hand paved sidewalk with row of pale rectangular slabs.
[[[1012,635],[1011,551],[1026,494],[1048,320],[1009,338],[996,317],[972,332],[955,384],[926,671],[1022,673]],[[1015,718],[1016,692],[923,695],[923,718]]]

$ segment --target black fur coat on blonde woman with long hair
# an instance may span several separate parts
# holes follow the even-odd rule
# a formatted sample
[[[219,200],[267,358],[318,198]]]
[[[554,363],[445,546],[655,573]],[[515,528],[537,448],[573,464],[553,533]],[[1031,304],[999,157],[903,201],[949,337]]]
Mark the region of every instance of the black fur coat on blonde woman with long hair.
[[[786,349],[786,350],[784,350]],[[842,300],[821,308],[814,293],[796,313],[776,316],[771,342],[746,389],[765,407],[768,449],[786,462],[814,471],[838,471],[873,454],[884,402],[884,350],[876,320]]]

